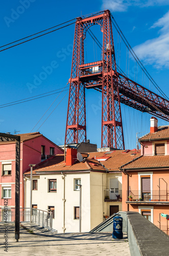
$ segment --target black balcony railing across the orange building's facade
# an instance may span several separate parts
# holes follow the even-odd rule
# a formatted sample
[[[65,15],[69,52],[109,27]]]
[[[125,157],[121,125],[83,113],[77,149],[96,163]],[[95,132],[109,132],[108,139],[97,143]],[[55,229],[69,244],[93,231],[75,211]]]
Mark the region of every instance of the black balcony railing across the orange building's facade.
[[[129,190],[126,201],[167,202],[169,190]]]

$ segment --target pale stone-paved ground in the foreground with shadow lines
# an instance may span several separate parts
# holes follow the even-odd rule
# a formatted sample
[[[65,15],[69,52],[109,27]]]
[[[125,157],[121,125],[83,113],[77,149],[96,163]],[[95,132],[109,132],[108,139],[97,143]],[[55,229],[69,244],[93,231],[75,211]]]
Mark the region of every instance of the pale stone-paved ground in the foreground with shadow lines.
[[[130,256],[127,236],[114,240],[112,233],[53,233],[36,225],[20,227],[19,242],[14,239],[14,226],[8,227],[8,252],[4,251],[4,226],[0,225],[0,254],[5,255],[113,255]],[[32,230],[33,233],[28,232]]]

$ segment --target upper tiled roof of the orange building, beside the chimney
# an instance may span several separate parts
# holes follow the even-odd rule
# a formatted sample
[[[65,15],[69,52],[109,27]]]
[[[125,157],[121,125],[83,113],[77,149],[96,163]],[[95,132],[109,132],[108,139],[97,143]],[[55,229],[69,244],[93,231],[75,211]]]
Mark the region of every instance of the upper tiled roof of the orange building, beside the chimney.
[[[169,126],[159,126],[157,132],[148,133],[141,138],[139,141],[148,141],[148,140],[161,140],[169,139]]]

